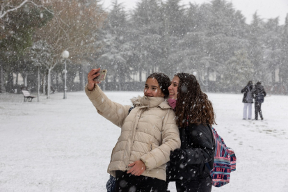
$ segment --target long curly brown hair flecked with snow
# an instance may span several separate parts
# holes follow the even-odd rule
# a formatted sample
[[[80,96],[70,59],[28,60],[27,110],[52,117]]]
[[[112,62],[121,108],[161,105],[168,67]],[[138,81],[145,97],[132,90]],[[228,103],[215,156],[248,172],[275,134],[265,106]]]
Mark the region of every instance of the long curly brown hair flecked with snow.
[[[207,95],[202,92],[200,85],[193,74],[177,73],[179,85],[177,88],[177,105],[175,114],[177,125],[186,126],[188,119],[191,124],[208,124],[214,125],[215,114],[212,103]]]

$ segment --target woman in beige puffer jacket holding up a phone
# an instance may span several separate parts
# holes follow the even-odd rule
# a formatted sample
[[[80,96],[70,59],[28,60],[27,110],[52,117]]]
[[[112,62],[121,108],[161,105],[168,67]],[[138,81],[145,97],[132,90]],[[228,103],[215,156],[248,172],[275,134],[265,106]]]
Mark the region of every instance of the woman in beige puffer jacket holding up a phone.
[[[100,69],[88,74],[86,94],[97,112],[120,127],[108,173],[116,177],[115,191],[166,191],[166,163],[170,151],[180,147],[175,113],[166,102],[170,79],[151,74],[144,97],[133,99],[134,109],[112,102],[93,81]]]

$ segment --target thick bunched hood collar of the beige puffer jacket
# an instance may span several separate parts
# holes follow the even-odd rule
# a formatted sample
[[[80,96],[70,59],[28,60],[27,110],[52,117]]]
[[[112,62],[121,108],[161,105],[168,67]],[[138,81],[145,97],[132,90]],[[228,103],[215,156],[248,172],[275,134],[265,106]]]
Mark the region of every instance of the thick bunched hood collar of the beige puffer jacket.
[[[156,107],[159,106],[161,109],[170,109],[171,107],[166,102],[163,97],[146,97],[138,96],[130,99],[133,106],[143,106],[143,107]]]

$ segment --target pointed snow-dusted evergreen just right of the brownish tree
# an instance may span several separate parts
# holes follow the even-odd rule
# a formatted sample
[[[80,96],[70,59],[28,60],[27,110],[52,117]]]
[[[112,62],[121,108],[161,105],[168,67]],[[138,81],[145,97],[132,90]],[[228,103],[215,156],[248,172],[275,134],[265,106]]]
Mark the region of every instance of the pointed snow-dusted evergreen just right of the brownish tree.
[[[130,68],[127,61],[129,57],[133,56],[134,50],[131,42],[129,42],[127,25],[127,15],[124,8],[120,3],[114,1],[113,9],[103,27],[104,45],[102,55],[97,59],[97,67],[106,68],[111,81],[119,81],[119,90],[125,86],[125,80],[130,79]]]

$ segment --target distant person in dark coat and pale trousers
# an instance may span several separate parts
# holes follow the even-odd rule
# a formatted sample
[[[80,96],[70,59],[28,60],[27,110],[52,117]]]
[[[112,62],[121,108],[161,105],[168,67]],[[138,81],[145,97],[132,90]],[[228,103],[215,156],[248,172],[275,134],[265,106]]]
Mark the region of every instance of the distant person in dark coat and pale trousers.
[[[244,93],[242,102],[244,103],[243,108],[243,120],[247,119],[247,108],[248,108],[248,120],[252,118],[252,104],[253,104],[253,82],[249,81],[247,86],[241,90]]]

